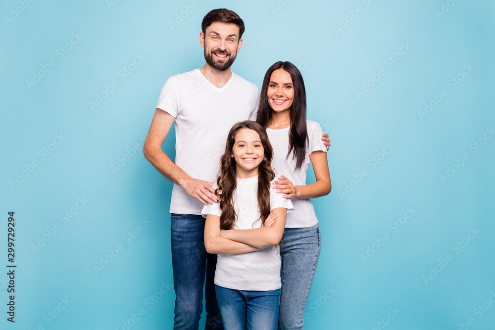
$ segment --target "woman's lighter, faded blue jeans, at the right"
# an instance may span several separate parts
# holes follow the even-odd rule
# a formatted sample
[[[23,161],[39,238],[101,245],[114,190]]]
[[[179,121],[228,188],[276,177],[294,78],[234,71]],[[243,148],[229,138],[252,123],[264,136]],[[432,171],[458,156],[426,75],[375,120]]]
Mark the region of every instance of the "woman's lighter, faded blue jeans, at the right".
[[[318,224],[309,228],[286,228],[282,236],[282,289],[279,326],[282,330],[302,329],[304,307],[320,256]]]

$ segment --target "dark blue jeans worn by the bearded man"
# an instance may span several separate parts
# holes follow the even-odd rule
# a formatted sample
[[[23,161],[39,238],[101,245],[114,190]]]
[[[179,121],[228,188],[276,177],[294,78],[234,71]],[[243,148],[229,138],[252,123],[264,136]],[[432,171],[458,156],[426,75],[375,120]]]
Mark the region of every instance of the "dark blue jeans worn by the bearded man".
[[[170,215],[172,268],[174,272],[174,330],[198,330],[203,310],[206,275],[207,330],[223,330],[215,295],[216,255],[204,248],[204,218],[196,214]]]

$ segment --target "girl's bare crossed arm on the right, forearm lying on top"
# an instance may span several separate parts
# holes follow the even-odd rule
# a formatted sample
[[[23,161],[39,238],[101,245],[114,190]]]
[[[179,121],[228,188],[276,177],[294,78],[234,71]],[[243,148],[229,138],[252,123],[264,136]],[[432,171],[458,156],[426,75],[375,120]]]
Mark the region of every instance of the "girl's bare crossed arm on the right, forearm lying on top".
[[[286,208],[274,208],[265,220],[265,227],[222,231],[220,238],[224,237],[229,240],[255,246],[259,249],[277,245],[280,243],[282,236],[284,235],[286,217]],[[270,223],[272,224],[270,225]]]

